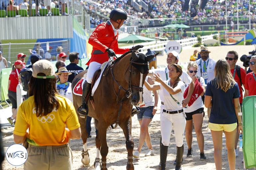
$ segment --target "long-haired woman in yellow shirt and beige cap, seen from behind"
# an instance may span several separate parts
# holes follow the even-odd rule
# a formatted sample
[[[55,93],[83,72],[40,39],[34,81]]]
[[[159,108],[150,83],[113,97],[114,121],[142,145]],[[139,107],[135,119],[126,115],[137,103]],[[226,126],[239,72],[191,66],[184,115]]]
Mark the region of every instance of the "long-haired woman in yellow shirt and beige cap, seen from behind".
[[[50,61],[39,60],[32,70],[30,97],[19,107],[13,132],[15,143],[28,142],[24,170],[71,170],[72,152],[67,142],[81,137],[74,106],[58,95]]]

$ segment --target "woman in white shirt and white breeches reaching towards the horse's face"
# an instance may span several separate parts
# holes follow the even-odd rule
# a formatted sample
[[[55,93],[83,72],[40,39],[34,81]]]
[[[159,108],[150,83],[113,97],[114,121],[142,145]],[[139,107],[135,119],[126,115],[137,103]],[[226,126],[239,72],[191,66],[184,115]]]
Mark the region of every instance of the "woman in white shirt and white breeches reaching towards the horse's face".
[[[161,170],[165,170],[168,146],[170,142],[172,127],[174,128],[175,141],[177,146],[177,163],[175,170],[181,170],[182,157],[184,152],[184,131],[186,126],[185,113],[182,108],[182,99],[185,85],[181,81],[182,68],[177,64],[172,64],[169,71],[168,81],[163,81],[159,75],[155,74],[153,81],[160,84],[149,85],[144,83],[148,90],[163,89],[164,109],[160,118],[162,143],[160,147]]]

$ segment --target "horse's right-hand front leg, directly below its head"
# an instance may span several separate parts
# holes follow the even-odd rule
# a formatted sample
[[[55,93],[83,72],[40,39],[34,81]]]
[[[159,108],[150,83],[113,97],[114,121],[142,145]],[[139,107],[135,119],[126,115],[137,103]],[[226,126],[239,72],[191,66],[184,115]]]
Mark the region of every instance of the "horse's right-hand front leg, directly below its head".
[[[133,147],[134,142],[132,140],[132,118],[131,116],[127,119],[127,121],[122,121],[119,123],[119,126],[123,129],[124,136],[126,139],[126,149],[128,151],[128,162],[126,165],[127,170],[134,170],[133,166]]]

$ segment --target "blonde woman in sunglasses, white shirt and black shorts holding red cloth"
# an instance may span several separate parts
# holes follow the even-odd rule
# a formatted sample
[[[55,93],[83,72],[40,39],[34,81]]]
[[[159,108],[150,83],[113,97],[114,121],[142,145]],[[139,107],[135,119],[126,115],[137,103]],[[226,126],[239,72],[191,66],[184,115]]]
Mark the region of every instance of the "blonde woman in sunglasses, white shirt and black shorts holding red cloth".
[[[188,144],[188,148],[189,148],[187,157],[193,157],[192,131],[193,131],[193,123],[194,123],[196,139],[197,139],[197,143],[198,143],[198,146],[200,149],[200,160],[206,160],[206,156],[204,155],[204,151],[203,151],[204,137],[202,134],[202,123],[203,123],[204,111],[203,111],[203,101],[201,98],[201,96],[203,96],[205,93],[205,88],[204,88],[205,83],[204,83],[204,79],[202,77],[196,76],[197,69],[198,69],[198,65],[196,64],[196,62],[194,62],[194,61],[189,62],[187,69],[188,69],[188,71],[187,71],[188,75],[192,78],[192,81],[195,82],[200,79],[198,84],[197,84],[197,82],[195,83],[194,90],[198,89],[198,88],[196,88],[196,85],[202,86],[202,88],[203,88],[203,92],[201,94],[197,94],[197,95],[199,95],[199,97],[193,102],[193,104],[191,106],[187,106],[184,108],[184,111],[186,114],[186,121],[187,121],[186,140],[187,140],[187,144]],[[191,99],[192,99],[192,97],[191,97]]]

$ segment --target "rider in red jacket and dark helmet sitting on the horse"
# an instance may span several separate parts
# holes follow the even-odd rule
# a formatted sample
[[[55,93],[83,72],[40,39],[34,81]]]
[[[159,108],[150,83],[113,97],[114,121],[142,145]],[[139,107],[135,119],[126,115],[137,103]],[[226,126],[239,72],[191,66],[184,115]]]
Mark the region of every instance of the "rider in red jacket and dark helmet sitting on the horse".
[[[92,52],[90,61],[88,62],[89,68],[86,81],[83,85],[82,105],[77,110],[81,118],[85,118],[88,114],[88,107],[85,99],[91,89],[93,75],[100,69],[101,64],[108,61],[109,57],[116,57],[116,54],[124,54],[130,50],[136,51],[143,47],[142,45],[137,45],[130,49],[119,48],[117,42],[117,29],[119,29],[124,21],[127,20],[127,14],[123,9],[116,8],[110,12],[109,18],[109,21],[97,26],[88,40],[88,43],[92,45]]]

